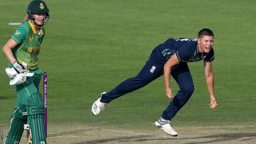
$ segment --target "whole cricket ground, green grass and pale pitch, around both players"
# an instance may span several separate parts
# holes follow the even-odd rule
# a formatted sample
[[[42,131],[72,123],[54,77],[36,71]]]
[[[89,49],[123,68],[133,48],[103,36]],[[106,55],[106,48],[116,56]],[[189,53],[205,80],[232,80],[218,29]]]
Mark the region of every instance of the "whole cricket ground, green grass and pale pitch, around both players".
[[[0,1],[1,47],[18,27],[8,23],[21,23],[29,2]],[[256,143],[256,1],[45,2],[50,22],[39,68],[48,73],[48,143]],[[154,126],[170,102],[163,77],[112,101],[97,117],[91,114],[98,96],[137,75],[155,46],[170,37],[197,37],[206,27],[215,33],[218,106],[209,108],[203,62],[190,63],[195,91],[172,119],[178,139]],[[0,62],[0,126],[5,139],[17,95],[5,73],[4,53]],[[171,87],[174,93],[178,91],[173,79]]]

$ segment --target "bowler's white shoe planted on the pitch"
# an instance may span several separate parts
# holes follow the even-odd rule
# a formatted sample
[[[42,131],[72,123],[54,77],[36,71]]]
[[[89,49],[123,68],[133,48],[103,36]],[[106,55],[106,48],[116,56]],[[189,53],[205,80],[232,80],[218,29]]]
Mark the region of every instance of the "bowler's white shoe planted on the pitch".
[[[172,135],[174,137],[178,136],[178,133],[172,129],[171,127],[171,121],[165,120],[162,117],[158,119],[158,121],[155,121],[155,126],[165,131],[165,133]]]

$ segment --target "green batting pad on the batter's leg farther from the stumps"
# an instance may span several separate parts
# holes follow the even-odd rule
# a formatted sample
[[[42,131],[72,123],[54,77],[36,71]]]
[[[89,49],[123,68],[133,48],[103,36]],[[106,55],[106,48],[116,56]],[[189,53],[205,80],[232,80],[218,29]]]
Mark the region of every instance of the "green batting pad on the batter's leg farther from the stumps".
[[[14,109],[14,117],[10,119],[9,132],[5,144],[18,144],[23,133],[23,126],[27,123],[27,108],[25,103]]]

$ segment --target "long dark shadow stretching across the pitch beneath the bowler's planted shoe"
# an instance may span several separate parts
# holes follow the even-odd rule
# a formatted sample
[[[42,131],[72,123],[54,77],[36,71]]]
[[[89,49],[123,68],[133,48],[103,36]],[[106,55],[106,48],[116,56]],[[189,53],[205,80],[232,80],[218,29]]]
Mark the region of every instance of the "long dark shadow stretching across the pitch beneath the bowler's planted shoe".
[[[151,138],[152,137],[152,138]],[[73,144],[102,144],[106,142],[147,142],[147,141],[167,141],[167,140],[190,140],[195,142],[188,142],[184,144],[209,144],[209,143],[215,143],[215,142],[227,142],[231,140],[237,140],[241,138],[240,141],[247,141],[249,139],[254,139],[256,137],[256,133],[227,133],[227,134],[219,134],[219,135],[208,135],[203,137],[184,137],[184,138],[154,138],[155,135],[138,135],[138,136],[130,136],[130,137],[116,137],[116,138],[107,138],[107,139],[97,139],[97,140],[91,140],[91,141],[85,141],[85,142],[79,142],[79,143],[73,143]],[[203,139],[206,139],[205,141]],[[209,140],[210,139],[210,140]],[[199,140],[203,142],[198,142]]]

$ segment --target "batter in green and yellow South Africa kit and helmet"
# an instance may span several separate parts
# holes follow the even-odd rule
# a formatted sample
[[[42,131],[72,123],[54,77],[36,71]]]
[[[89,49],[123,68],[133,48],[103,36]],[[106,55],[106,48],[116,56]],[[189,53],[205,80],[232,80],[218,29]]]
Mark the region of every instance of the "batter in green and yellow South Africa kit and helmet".
[[[18,144],[24,124],[27,123],[32,144],[46,144],[43,99],[37,90],[42,71],[37,66],[40,45],[45,35],[44,26],[49,19],[48,13],[49,9],[42,0],[30,2],[27,17],[3,47],[3,52],[9,60],[9,67],[13,67],[17,73],[15,78],[10,79],[16,80],[13,87],[18,93],[5,144]],[[27,66],[23,66],[22,62]],[[26,78],[24,73],[27,70],[34,75]]]

